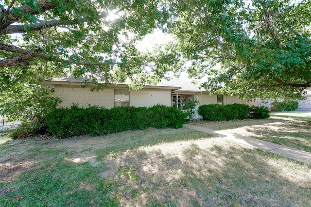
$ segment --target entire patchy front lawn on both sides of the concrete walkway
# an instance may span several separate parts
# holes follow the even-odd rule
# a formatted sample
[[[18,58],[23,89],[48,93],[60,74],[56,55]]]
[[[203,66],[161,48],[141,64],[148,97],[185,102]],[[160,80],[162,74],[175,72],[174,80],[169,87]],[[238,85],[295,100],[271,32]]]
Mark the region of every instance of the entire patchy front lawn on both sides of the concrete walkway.
[[[308,151],[307,121],[275,116],[204,124],[277,142],[299,140],[294,146]],[[310,165],[186,128],[0,139],[4,206],[307,207],[311,202]]]

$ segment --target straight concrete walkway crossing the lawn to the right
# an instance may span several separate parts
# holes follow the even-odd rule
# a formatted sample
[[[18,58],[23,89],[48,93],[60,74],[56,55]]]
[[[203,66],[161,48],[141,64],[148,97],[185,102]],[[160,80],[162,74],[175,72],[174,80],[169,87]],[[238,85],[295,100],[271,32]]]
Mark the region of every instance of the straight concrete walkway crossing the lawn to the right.
[[[242,143],[248,146],[256,147],[262,150],[266,150],[268,152],[276,153],[280,156],[291,158],[300,162],[304,162],[307,164],[311,164],[311,153],[305,152],[299,149],[295,149],[292,147],[287,147],[275,143],[269,143],[266,141],[254,139],[251,137],[245,137],[241,135],[233,135],[230,133],[225,133],[223,131],[216,131],[214,129],[199,127],[190,124],[184,124],[184,127],[190,128],[196,131],[205,132],[207,134],[212,134],[215,136],[224,137],[225,139],[232,140],[238,143]]]

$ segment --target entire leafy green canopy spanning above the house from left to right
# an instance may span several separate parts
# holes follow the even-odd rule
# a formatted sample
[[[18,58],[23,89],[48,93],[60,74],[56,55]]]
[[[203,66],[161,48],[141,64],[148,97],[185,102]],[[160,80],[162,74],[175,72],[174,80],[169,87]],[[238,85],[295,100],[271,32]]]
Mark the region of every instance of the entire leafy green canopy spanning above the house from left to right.
[[[1,0],[0,102],[56,76],[141,87],[169,71],[212,93],[301,98],[310,22],[310,0]],[[154,30],[174,41],[139,51]]]

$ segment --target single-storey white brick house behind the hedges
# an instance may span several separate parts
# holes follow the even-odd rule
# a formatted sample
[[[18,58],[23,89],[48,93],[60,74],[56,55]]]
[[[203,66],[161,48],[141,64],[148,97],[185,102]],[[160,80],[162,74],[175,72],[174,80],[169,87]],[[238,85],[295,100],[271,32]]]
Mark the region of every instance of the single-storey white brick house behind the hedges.
[[[151,107],[157,104],[165,106],[187,107],[189,102],[197,100],[203,104],[233,104],[242,103],[237,96],[213,95],[200,89],[198,85],[186,80],[163,80],[156,86],[146,85],[134,91],[128,90],[125,84],[110,85],[109,88],[92,92],[95,85],[89,84],[81,88],[83,79],[54,78],[45,80],[44,83],[54,89],[56,97],[62,102],[60,107],[69,107],[78,103],[79,107],[88,105],[103,106],[106,108],[119,106]],[[196,114],[196,118],[200,118]]]

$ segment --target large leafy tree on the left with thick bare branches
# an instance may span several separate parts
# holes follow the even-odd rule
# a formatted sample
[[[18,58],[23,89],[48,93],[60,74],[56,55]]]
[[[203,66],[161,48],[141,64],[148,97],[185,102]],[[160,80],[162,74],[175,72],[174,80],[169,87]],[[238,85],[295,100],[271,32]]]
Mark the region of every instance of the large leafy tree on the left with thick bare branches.
[[[161,79],[175,59],[141,54],[136,44],[163,28],[166,9],[159,0],[1,0],[0,112],[17,117],[42,102],[35,93],[47,78],[130,78],[133,87]]]

